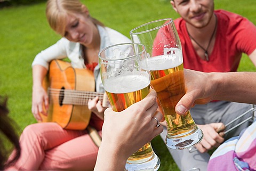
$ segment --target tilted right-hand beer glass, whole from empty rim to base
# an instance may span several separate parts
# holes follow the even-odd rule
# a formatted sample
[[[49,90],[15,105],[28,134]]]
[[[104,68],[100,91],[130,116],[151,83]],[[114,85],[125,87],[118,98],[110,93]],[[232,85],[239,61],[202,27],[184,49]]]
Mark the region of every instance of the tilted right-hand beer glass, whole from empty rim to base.
[[[165,143],[171,149],[187,149],[199,143],[203,132],[188,111],[180,116],[175,105],[186,93],[182,48],[172,19],[146,23],[130,31],[132,42],[145,45],[148,59],[141,68],[150,70],[151,87],[157,92],[159,105],[167,123]]]

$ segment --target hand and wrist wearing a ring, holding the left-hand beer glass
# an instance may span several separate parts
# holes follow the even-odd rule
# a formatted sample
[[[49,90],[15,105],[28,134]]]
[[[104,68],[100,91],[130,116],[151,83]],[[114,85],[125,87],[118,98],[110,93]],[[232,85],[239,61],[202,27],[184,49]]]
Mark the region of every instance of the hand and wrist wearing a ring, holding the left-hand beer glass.
[[[163,118],[161,112],[156,112],[157,107],[156,92],[151,90],[145,99],[122,112],[114,112],[111,108],[105,111],[94,171],[123,171],[129,156],[163,131],[162,126],[156,127],[156,120],[152,118]]]

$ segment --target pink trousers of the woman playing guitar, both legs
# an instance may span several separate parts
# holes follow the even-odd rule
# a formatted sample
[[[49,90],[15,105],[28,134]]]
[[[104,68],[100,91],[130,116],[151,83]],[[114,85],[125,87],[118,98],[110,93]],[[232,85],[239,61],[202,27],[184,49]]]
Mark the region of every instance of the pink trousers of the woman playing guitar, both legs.
[[[7,170],[93,170],[98,153],[86,131],[62,129],[56,123],[27,126],[20,145],[19,160]]]

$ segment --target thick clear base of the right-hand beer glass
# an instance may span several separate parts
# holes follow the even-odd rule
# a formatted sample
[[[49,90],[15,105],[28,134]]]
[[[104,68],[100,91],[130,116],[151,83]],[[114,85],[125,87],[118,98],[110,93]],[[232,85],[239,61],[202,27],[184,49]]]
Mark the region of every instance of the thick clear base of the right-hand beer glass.
[[[167,135],[165,139],[166,146],[170,149],[183,150],[198,144],[203,140],[203,131],[196,127],[193,131],[182,136]]]

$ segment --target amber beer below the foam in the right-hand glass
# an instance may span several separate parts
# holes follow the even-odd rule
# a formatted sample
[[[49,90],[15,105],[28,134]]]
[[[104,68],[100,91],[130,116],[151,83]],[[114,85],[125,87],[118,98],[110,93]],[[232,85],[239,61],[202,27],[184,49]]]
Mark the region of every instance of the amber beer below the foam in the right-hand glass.
[[[151,72],[151,86],[157,92],[167,123],[167,136],[187,135],[196,125],[190,112],[180,116],[175,112],[175,105],[185,94],[183,63],[177,67]]]

